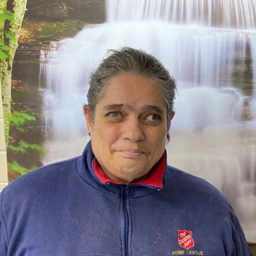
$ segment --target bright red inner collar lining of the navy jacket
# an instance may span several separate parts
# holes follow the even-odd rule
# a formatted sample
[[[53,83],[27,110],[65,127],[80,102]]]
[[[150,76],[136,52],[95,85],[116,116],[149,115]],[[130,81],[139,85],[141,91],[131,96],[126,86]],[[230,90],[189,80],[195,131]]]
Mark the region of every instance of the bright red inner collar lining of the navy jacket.
[[[156,187],[162,189],[163,188],[162,180],[163,180],[165,165],[166,165],[166,153],[164,152],[162,158],[160,158],[159,161],[151,169],[151,171],[150,171],[150,173],[147,177],[147,180],[139,181],[139,182],[133,182],[131,184],[156,186]],[[114,184],[122,184],[122,183],[116,182],[114,180],[111,180],[111,178],[108,178],[103,173],[103,171],[100,169],[100,167],[98,166],[98,163],[97,163],[96,159],[94,159],[94,161],[93,161],[93,168],[94,168],[94,172],[97,175],[97,177],[104,184],[107,183],[107,182],[111,182],[111,183],[114,183]]]

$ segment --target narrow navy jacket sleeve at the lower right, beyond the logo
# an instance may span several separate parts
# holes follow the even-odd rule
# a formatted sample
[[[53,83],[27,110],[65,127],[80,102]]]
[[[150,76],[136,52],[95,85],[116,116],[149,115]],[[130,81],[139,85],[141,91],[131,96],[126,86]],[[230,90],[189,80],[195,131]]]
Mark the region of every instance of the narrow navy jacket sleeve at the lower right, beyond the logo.
[[[235,211],[229,206],[229,218],[232,226],[232,237],[233,237],[233,251],[231,256],[253,256],[251,250],[246,242],[243,229],[236,217]]]

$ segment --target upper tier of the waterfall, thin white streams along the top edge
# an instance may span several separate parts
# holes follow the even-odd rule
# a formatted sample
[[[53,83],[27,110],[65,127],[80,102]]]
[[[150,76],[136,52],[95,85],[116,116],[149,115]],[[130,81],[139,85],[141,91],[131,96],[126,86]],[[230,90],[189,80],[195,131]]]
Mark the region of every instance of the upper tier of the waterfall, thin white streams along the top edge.
[[[129,12],[127,12],[129,10]],[[116,0],[107,1],[107,21],[160,20],[174,24],[253,29],[255,0]]]

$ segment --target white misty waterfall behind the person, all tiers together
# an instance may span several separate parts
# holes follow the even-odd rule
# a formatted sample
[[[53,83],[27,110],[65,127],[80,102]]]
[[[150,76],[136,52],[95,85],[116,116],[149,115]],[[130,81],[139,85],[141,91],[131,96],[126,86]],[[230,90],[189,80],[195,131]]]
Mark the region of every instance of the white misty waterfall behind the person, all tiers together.
[[[107,1],[106,23],[42,52],[45,163],[81,153],[89,74],[107,49],[144,49],[177,81],[169,164],[225,193],[256,242],[255,13],[256,0]]]

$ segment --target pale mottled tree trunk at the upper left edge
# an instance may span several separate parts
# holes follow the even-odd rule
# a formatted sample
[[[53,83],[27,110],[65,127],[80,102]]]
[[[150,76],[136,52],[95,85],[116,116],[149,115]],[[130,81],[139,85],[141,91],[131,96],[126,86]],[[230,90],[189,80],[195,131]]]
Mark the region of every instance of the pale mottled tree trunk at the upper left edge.
[[[23,21],[27,0],[1,0],[0,8],[9,10],[14,14],[13,20],[0,21],[0,39],[5,45],[10,46],[9,57],[0,60],[0,79],[2,85],[3,114],[5,117],[5,131],[9,133],[8,114],[10,113],[11,85],[12,85],[12,64],[14,54],[18,46],[20,27]],[[14,40],[6,38],[5,32],[13,32]]]

